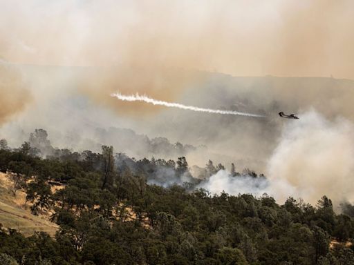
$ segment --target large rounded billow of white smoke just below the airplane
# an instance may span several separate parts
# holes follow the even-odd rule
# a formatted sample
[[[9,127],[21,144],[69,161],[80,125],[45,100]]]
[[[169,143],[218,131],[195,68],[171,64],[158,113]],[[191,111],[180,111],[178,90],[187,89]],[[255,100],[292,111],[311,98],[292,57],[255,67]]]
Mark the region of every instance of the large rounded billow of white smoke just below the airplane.
[[[328,121],[315,111],[286,124],[269,160],[268,176],[271,183],[283,179],[293,190],[273,187],[277,197],[285,199],[282,194],[295,193],[311,204],[322,195],[336,204],[343,199],[353,201],[353,136],[350,121]]]

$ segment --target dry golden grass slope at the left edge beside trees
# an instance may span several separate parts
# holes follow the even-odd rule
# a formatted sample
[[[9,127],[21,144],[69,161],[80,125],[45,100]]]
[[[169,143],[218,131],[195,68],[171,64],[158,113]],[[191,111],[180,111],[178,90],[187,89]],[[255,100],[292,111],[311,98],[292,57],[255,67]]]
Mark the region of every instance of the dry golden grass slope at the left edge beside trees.
[[[32,235],[35,231],[55,235],[57,225],[49,222],[46,216],[32,215],[29,207],[24,205],[26,194],[17,192],[13,197],[10,185],[8,177],[0,173],[0,224],[4,228],[15,228],[24,235]]]

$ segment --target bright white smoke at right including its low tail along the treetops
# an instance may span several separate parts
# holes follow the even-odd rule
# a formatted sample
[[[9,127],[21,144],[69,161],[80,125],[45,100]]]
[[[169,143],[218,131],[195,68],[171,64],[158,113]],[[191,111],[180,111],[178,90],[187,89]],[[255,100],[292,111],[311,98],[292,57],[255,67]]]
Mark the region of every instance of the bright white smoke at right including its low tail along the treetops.
[[[232,177],[225,170],[200,185],[211,193],[250,193],[271,195],[283,203],[288,197],[301,197],[315,205],[326,195],[339,205],[353,202],[354,126],[350,121],[328,121],[315,111],[287,124],[272,157],[267,179]]]

